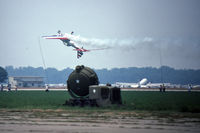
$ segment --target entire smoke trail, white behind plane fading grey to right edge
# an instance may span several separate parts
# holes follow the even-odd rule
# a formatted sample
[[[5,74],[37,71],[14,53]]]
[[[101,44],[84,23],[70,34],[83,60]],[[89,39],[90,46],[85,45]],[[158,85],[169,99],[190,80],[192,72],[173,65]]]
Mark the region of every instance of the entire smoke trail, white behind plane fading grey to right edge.
[[[200,40],[190,38],[129,38],[129,39],[97,39],[84,38],[65,34],[77,44],[93,48],[112,48],[121,52],[130,52],[134,56],[144,56],[145,58],[163,56],[171,60],[199,60]],[[134,51],[134,52],[133,52]]]

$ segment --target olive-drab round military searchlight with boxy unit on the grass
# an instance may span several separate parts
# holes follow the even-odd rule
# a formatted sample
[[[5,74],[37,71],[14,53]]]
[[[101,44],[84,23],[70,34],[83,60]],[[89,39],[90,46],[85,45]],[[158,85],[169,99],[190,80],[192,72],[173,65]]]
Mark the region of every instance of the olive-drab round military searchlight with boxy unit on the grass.
[[[120,88],[99,86],[97,74],[89,67],[76,66],[67,80],[68,92],[72,99],[66,105],[109,106],[121,104]]]

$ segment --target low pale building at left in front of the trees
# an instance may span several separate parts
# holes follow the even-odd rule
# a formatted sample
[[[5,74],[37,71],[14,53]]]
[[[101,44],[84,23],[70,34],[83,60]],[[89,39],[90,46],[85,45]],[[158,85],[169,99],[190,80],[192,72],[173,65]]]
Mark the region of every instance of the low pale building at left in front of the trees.
[[[34,76],[9,77],[8,81],[11,84],[11,86],[44,87],[44,78],[43,77],[34,77]]]

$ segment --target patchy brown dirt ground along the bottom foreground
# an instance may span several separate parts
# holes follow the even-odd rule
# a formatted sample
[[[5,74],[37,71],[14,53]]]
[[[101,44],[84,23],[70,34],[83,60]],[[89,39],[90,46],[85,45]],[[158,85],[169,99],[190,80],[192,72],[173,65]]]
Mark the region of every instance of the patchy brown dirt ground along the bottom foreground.
[[[136,111],[0,110],[0,131],[132,133],[200,132],[200,118]],[[177,114],[176,114],[177,115]]]

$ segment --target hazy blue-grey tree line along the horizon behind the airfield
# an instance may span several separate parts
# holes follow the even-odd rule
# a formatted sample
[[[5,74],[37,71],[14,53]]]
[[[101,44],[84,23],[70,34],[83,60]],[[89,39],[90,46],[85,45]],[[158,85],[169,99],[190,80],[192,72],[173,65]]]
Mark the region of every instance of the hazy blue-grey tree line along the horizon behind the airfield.
[[[8,76],[42,76],[46,77],[46,83],[58,84],[66,83],[68,76],[73,71],[71,68],[57,70],[56,68],[42,67],[5,67]],[[95,72],[99,77],[100,83],[115,83],[115,82],[139,82],[143,78],[147,78],[152,83],[173,83],[173,84],[200,84],[200,69],[174,69],[168,66],[160,68],[153,67],[129,67],[129,68],[113,68],[96,69]]]

